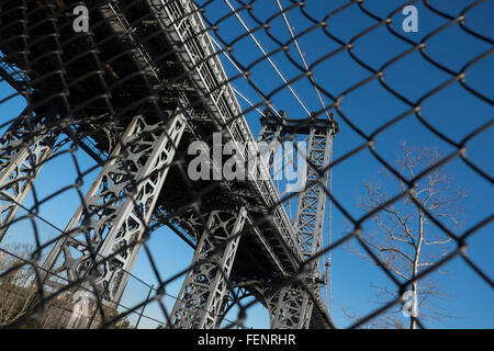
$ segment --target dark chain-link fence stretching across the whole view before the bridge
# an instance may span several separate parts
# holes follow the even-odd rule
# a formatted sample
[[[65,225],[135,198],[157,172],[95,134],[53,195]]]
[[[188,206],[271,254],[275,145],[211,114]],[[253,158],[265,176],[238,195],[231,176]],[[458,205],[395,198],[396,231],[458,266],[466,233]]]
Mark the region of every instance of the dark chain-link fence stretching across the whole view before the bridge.
[[[454,262],[493,287],[492,2],[0,11],[2,327],[423,328]]]

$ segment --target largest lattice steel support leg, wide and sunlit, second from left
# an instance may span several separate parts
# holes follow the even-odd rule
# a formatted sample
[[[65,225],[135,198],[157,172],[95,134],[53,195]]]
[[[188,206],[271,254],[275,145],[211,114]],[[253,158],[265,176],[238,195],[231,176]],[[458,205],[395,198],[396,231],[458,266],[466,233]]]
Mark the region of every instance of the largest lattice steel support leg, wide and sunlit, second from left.
[[[181,114],[169,114],[167,125],[143,116],[131,122],[124,147],[115,147],[46,259],[46,285],[59,287],[91,273],[100,296],[119,303],[186,127]],[[89,280],[82,286],[89,287]]]

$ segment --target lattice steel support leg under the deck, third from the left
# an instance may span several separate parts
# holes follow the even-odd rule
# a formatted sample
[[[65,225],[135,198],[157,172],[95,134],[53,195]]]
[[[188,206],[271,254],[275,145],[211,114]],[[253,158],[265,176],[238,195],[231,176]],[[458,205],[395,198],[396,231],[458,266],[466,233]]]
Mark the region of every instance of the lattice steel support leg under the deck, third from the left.
[[[236,213],[211,213],[171,313],[173,328],[217,327],[246,215],[244,207]]]

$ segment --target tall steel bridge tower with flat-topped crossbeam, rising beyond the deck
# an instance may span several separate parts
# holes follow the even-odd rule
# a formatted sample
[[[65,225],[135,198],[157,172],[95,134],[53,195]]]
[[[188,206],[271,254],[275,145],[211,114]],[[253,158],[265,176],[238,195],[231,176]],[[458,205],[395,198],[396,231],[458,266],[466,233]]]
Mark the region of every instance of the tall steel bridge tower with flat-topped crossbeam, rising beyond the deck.
[[[299,194],[293,224],[304,258],[311,260],[323,247],[328,166],[338,124],[333,114],[328,114],[329,118],[317,118],[317,115],[313,113],[306,120],[289,120],[284,112],[280,112],[280,116],[277,117],[270,110],[265,111],[258,140],[268,144],[279,141],[277,146],[280,147],[283,140],[290,140],[296,135],[308,136],[306,155],[303,156],[307,162],[305,189]],[[271,150],[273,151],[276,152],[274,149]],[[271,158],[269,162],[271,163]],[[269,301],[269,309],[272,314],[271,328],[308,328],[314,303],[307,291],[317,295],[324,283],[319,260],[315,259],[305,267],[300,275],[300,282],[282,287],[271,295]]]

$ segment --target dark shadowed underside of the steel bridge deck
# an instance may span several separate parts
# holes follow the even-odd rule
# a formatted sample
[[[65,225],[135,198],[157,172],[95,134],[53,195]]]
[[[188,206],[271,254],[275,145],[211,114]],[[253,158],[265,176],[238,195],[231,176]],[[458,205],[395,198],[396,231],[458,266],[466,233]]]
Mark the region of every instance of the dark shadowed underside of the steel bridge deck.
[[[164,35],[153,1],[119,1],[117,9],[110,1],[86,2],[90,33],[74,32],[71,7],[64,1],[1,1],[2,60],[25,72],[12,80],[4,66],[1,75],[25,97],[31,114],[50,116],[45,129],[69,136],[104,165],[133,118],[143,115],[158,123],[169,118],[167,111],[178,109],[187,126],[176,159],[183,162],[168,171],[151,227],[167,225],[197,247],[204,231],[198,213],[207,219],[214,211],[245,208],[231,282],[254,281],[267,288],[296,272],[301,258],[288,248],[276,224],[266,220],[272,208],[252,191],[251,182],[187,178],[183,165],[193,158],[187,155],[188,146],[202,140],[212,148],[213,133],[224,125],[212,116],[204,94]],[[267,306],[263,293],[251,293]],[[311,328],[328,328],[325,314],[319,301]]]

